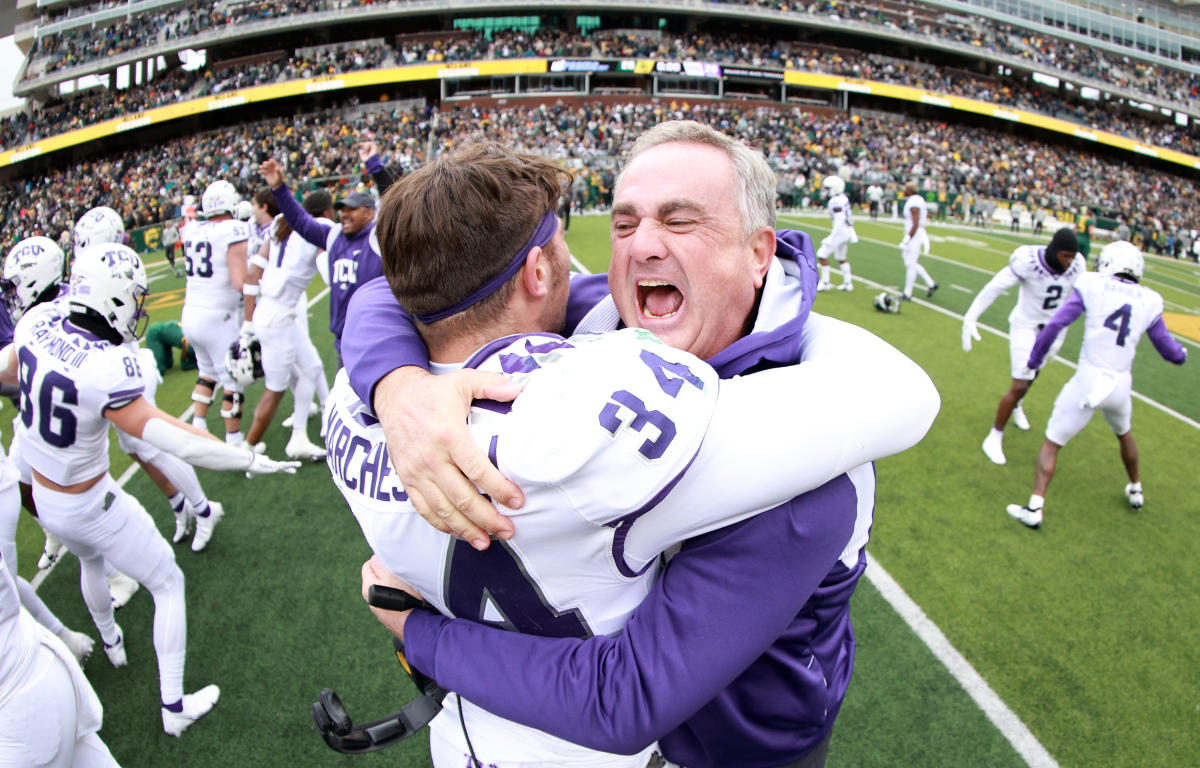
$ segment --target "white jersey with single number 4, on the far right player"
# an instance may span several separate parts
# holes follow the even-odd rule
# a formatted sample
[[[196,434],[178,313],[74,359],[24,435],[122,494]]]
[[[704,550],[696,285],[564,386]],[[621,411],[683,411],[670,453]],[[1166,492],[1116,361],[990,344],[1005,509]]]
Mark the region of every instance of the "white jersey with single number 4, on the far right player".
[[[1084,346],[1079,362],[1109,371],[1133,368],[1141,335],[1163,314],[1163,296],[1112,275],[1085,272],[1075,281],[1084,300]]]

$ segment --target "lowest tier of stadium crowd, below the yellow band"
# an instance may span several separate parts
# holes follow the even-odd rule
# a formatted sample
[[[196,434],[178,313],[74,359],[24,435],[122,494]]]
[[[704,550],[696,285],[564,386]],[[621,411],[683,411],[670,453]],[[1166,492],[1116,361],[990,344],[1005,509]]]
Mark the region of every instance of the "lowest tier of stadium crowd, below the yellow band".
[[[852,182],[902,184],[919,179],[926,190],[976,199],[1022,200],[1027,206],[1075,210],[1088,205],[1127,226],[1159,232],[1189,230],[1200,221],[1200,193],[1190,181],[1010,134],[944,122],[869,116],[824,116],[800,109],[599,102],[539,104],[506,109],[433,108],[372,112],[348,119],[336,110],[262,121],[181,137],[158,146],[78,162],[0,190],[7,242],[46,234],[59,238],[80,212],[114,208],[130,227],[175,218],[185,196],[197,196],[216,179],[250,194],[260,181],[258,158],[270,151],[300,184],[367,185],[354,150],[364,133],[385,148],[400,172],[420,167],[431,134],[434,151],[463,137],[486,134],[548,155],[578,176],[583,206],[602,206],[616,158],[634,138],[668,118],[689,116],[760,146],[792,188],[817,199],[821,179],[840,173]],[[299,187],[299,184],[298,184]],[[582,190],[582,194],[580,194]],[[1153,241],[1147,234],[1147,241]]]

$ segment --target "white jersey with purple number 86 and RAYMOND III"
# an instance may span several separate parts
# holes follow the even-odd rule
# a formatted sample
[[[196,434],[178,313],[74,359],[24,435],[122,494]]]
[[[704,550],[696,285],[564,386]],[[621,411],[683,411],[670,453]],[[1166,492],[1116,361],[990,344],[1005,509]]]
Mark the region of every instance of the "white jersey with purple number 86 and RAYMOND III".
[[[138,355],[67,322],[64,300],[17,323],[22,458],[59,485],[108,470],[104,409],[127,406],[145,384]]]

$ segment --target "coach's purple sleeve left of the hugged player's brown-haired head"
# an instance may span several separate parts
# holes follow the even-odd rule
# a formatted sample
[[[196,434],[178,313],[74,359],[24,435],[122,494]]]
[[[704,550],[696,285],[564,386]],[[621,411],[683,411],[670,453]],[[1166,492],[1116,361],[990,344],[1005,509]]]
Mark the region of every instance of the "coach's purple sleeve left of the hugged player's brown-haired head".
[[[430,367],[425,341],[385,277],[364,283],[350,296],[342,329],[342,364],[350,389],[365,403],[372,402],[376,384],[391,371],[406,365]]]

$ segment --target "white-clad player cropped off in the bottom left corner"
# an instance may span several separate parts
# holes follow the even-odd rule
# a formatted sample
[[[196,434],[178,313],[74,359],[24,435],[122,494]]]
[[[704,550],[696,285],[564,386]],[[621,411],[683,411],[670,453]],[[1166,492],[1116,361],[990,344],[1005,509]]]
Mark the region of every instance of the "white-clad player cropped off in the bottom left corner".
[[[0,559],[0,766],[116,768],[97,734],[96,691],[59,638],[22,610],[7,550]]]

